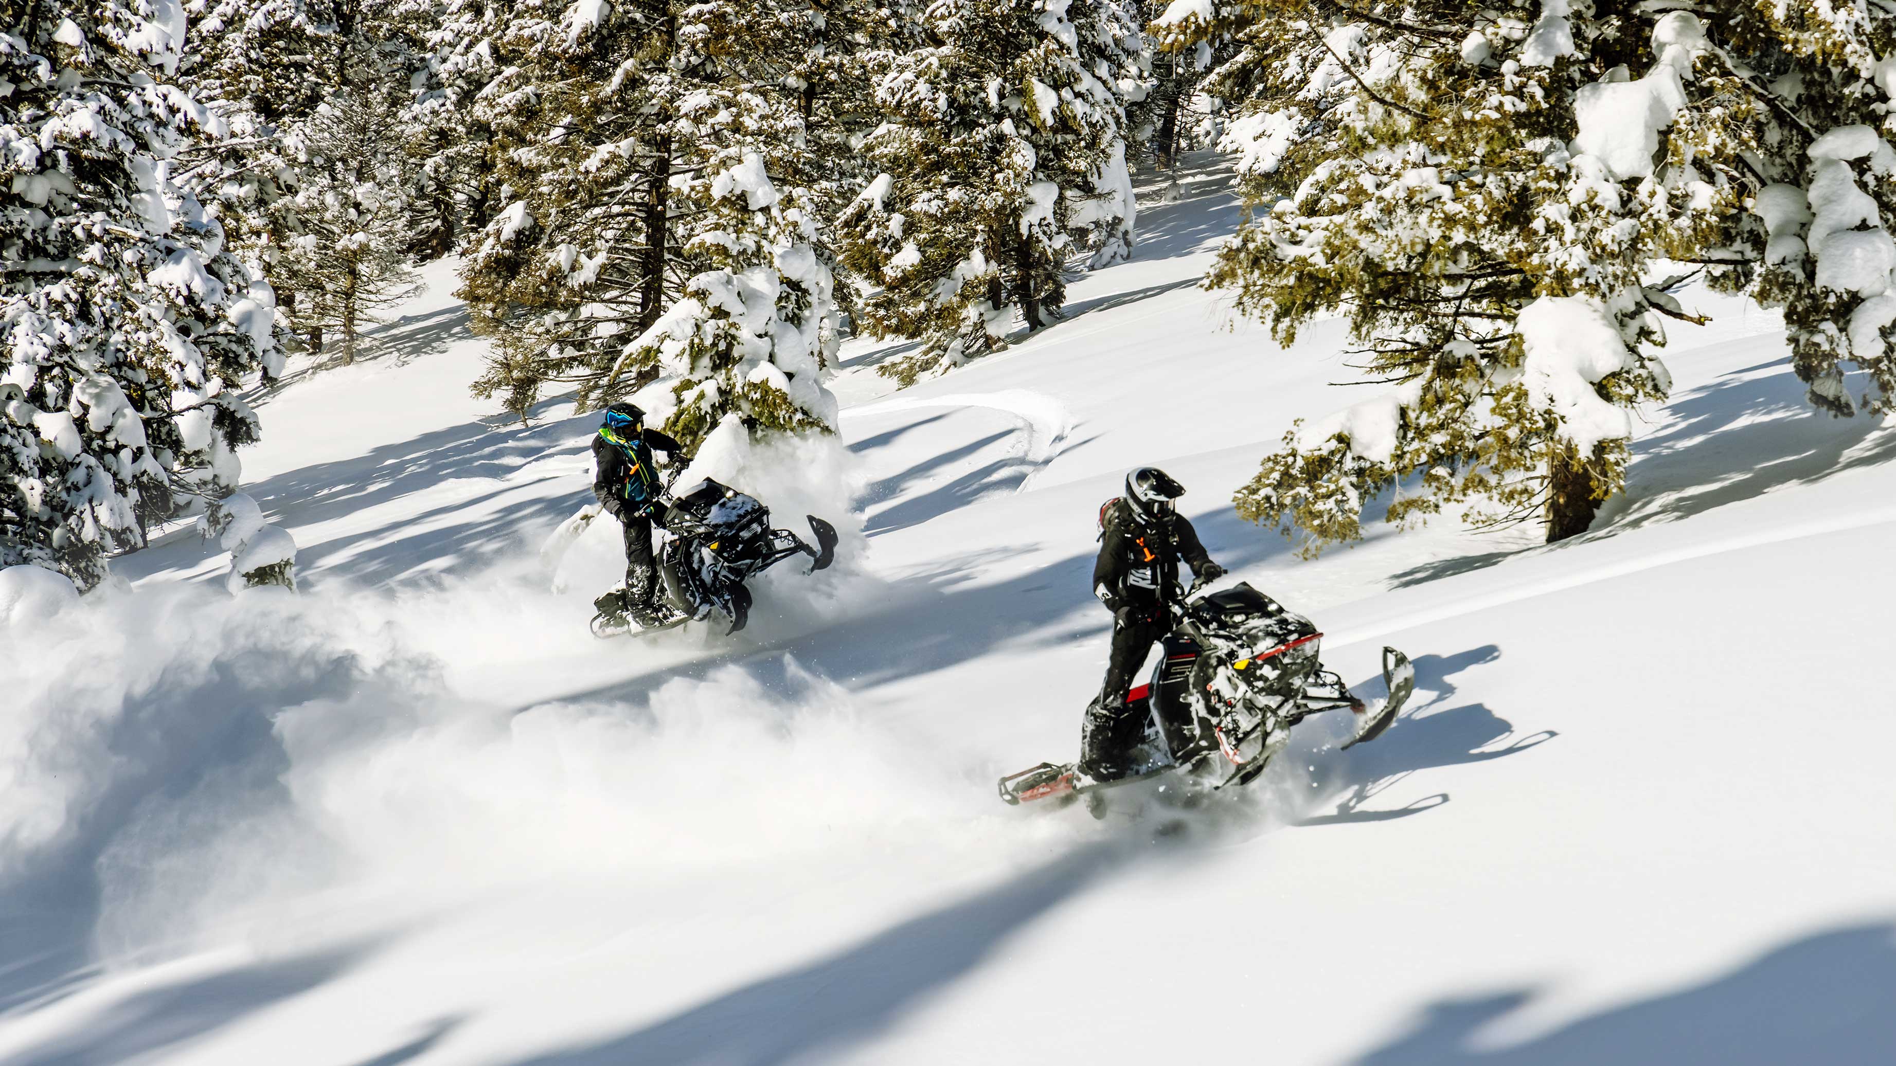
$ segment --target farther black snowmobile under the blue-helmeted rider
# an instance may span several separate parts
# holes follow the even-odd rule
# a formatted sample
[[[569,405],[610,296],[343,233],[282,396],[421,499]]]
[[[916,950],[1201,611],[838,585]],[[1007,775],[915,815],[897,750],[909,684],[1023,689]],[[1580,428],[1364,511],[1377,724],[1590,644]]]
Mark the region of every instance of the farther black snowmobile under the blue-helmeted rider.
[[[722,611],[736,634],[751,618],[751,590],[743,586],[791,556],[810,556],[810,571],[836,558],[836,527],[810,518],[815,546],[789,529],[770,527],[770,508],[757,497],[705,478],[665,505],[665,539],[658,573],[665,599],[679,611],[675,624]],[[665,626],[669,628],[669,626]]]

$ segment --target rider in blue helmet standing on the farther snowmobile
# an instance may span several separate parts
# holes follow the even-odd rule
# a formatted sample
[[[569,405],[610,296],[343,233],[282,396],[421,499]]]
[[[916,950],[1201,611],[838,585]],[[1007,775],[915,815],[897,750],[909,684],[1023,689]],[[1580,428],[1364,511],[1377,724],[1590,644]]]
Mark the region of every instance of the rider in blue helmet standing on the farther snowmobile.
[[[618,402],[605,410],[593,436],[593,495],[599,506],[626,527],[626,588],[595,601],[601,615],[631,616],[641,628],[664,624],[658,607],[658,567],[652,565],[652,520],[664,522],[660,495],[664,482],[652,451],[677,461],[684,446],[645,425],[645,412]]]

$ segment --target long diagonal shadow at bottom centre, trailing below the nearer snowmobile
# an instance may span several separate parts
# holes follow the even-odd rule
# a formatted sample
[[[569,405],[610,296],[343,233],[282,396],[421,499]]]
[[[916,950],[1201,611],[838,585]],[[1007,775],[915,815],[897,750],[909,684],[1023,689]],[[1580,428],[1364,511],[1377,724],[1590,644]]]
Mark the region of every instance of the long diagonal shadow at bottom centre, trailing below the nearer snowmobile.
[[[514,1066],[777,1066],[872,1038],[1085,890],[1107,865],[1081,848],[997,888],[910,918],[836,954],[753,981],[624,1036]]]

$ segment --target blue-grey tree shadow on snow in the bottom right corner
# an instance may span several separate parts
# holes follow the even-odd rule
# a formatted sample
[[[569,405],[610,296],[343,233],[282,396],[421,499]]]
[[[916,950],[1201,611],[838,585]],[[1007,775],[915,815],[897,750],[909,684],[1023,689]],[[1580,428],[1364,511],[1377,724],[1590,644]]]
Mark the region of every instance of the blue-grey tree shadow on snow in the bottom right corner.
[[[1871,1066],[1896,1062],[1896,924],[1866,922],[1784,943],[1676,992],[1598,1011],[1509,1047],[1485,1026],[1536,988],[1447,998],[1358,1066]]]

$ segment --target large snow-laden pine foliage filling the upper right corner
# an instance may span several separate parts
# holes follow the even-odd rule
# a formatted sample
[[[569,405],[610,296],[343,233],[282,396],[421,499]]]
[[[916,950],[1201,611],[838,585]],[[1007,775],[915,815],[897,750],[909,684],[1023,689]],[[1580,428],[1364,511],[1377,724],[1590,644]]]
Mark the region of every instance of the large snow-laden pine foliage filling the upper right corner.
[[[1689,319],[1667,294],[1680,266],[1782,303],[1820,404],[1849,404],[1845,353],[1873,370],[1871,406],[1887,402],[1896,150],[1873,127],[1896,83],[1879,59],[1896,15],[1820,0],[1718,11],[1166,9],[1162,47],[1238,49],[1206,91],[1242,104],[1225,144],[1253,214],[1208,285],[1284,341],[1342,311],[1365,368],[1401,383],[1287,434],[1240,489],[1242,514],[1316,548],[1359,537],[1363,499],[1405,482],[1392,520],[1477,503],[1477,518],[1543,512],[1551,541],[1587,529],[1623,486],[1631,408],[1668,391],[1642,345],[1663,341],[1665,317]]]

